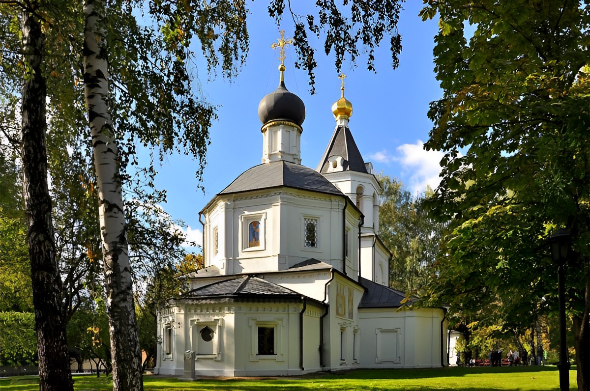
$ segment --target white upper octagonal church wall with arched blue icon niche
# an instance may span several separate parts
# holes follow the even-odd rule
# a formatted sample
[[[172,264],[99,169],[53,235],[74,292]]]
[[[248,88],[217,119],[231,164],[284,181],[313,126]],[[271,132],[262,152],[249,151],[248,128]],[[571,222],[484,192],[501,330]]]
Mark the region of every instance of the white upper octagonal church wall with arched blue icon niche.
[[[240,274],[286,270],[316,258],[343,270],[344,206],[340,196],[296,189],[219,196],[204,213],[205,265],[217,266],[221,274]],[[260,246],[255,248],[247,245],[251,219],[260,221]],[[316,247],[305,246],[305,219],[317,220]],[[358,222],[358,212],[349,204],[347,272],[351,274],[358,270]]]

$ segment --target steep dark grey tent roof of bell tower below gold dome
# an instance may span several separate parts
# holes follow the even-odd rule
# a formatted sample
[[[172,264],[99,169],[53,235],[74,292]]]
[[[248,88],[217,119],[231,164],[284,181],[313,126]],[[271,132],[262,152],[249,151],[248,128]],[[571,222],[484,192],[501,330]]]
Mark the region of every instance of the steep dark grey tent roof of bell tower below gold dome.
[[[343,171],[358,171],[368,173],[365,167],[365,161],[360,155],[359,148],[356,146],[355,139],[350,133],[348,126],[337,126],[332,134],[332,139],[328,143],[326,152],[320,164],[317,166],[317,170],[325,174],[328,172],[329,162],[328,159],[331,156],[342,156],[342,170]]]

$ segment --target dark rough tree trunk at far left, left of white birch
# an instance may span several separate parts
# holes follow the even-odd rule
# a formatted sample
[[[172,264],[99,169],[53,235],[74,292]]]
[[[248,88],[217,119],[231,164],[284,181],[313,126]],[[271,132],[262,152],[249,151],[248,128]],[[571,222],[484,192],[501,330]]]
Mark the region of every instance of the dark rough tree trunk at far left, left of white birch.
[[[28,69],[22,86],[22,167],[39,351],[39,388],[42,391],[73,390],[47,185],[47,86],[41,70],[45,36],[40,20],[30,10],[22,12],[21,31],[24,62]]]

